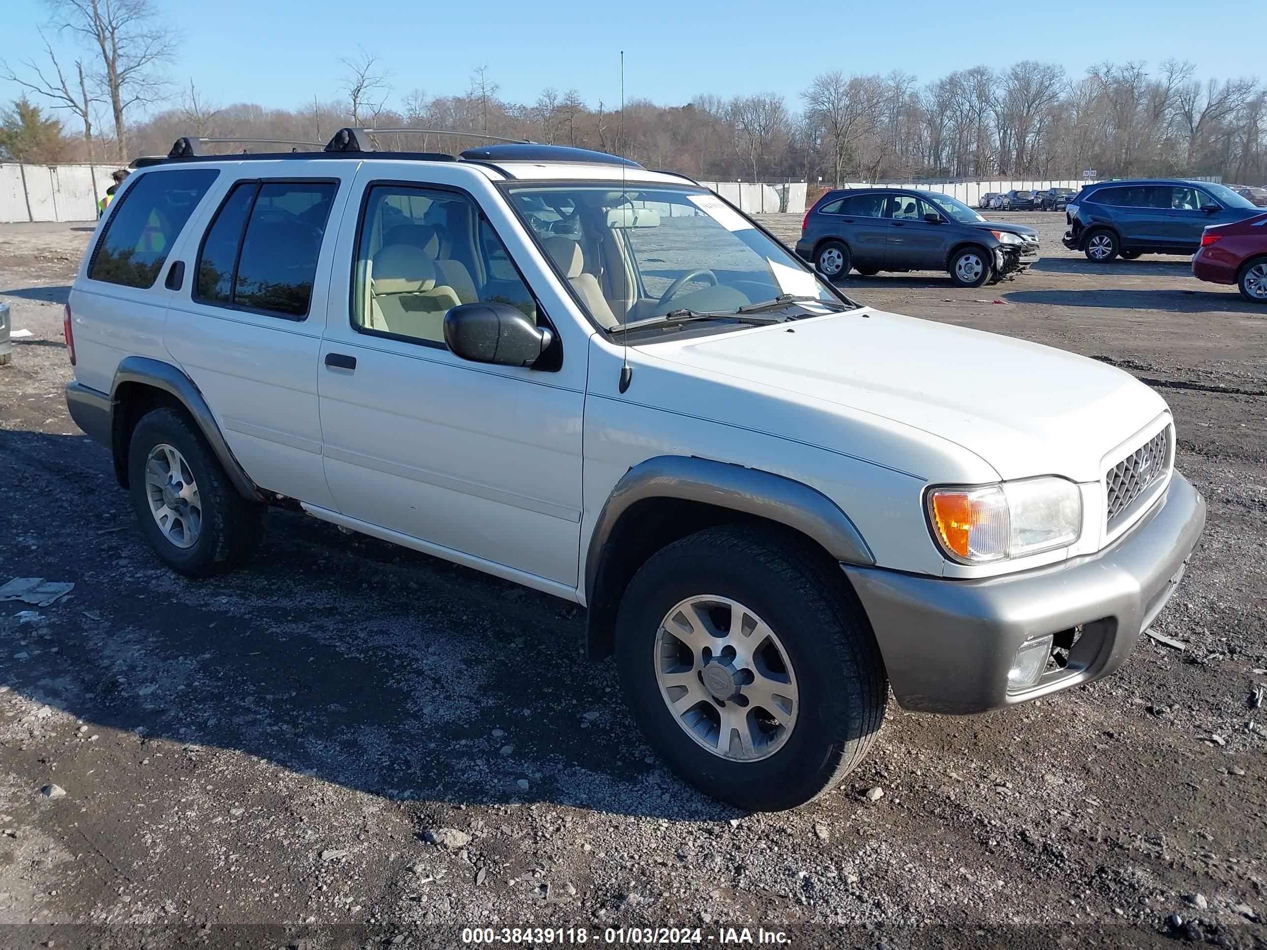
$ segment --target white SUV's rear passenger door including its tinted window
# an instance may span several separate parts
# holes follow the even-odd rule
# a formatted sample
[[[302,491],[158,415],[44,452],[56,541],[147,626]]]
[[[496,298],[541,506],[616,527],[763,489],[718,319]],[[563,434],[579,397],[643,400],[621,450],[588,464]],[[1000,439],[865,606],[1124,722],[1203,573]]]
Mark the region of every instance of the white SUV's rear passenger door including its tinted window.
[[[207,396],[262,488],[332,505],[321,456],[317,362],[333,241],[356,162],[231,166],[182,251],[167,310],[171,355]]]

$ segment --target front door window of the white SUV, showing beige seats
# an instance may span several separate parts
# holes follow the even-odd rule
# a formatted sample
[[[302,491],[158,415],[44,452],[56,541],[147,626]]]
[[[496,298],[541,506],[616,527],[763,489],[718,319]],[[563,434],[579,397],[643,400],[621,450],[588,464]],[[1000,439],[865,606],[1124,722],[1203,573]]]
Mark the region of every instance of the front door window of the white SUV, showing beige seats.
[[[475,203],[455,191],[370,187],[355,267],[352,327],[361,332],[445,346],[445,314],[474,303],[509,304],[537,320],[506,246]]]

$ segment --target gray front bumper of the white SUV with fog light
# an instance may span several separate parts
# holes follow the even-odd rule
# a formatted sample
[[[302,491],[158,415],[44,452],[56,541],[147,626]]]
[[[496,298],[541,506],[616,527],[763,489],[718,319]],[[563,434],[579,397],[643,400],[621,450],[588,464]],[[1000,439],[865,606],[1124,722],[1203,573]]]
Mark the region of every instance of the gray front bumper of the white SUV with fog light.
[[[1205,528],[1205,499],[1178,472],[1128,535],[1050,567],[945,580],[841,565],[853,581],[897,700],[907,709],[977,713],[1087,683],[1116,670],[1169,599]],[[1076,642],[1068,664],[1021,692],[1007,671],[1028,640]]]

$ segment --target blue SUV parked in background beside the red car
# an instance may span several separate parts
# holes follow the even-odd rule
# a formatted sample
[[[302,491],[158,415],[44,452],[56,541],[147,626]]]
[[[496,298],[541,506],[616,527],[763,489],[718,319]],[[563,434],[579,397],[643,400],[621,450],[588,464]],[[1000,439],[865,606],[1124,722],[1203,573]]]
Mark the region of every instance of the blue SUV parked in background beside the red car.
[[[1210,181],[1147,179],[1087,185],[1064,214],[1069,229],[1062,243],[1104,262],[1196,253],[1205,228],[1252,218],[1262,208]]]

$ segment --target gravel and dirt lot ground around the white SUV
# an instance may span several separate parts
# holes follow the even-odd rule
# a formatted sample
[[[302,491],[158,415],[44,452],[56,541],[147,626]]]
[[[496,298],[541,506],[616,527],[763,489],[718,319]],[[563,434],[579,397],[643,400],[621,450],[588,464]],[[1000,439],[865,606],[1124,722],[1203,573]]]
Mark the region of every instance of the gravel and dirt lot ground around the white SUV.
[[[763,816],[650,756],[561,600],[284,512],[247,571],[160,567],[62,396],[91,227],[0,225],[0,300],[33,333],[0,366],[0,583],[75,584],[0,604],[0,944],[656,925],[704,944],[761,926],[799,946],[1267,946],[1267,309],[1185,260],[1091,265],[1060,247],[1063,215],[1014,217],[1045,255],[1014,281],[846,290],[1161,390],[1210,505],[1156,626],[1186,649],[1144,638],[1115,676],[1007,713],[891,706],[843,788]],[[793,238],[799,217],[767,224]]]

